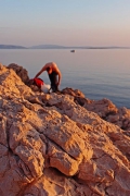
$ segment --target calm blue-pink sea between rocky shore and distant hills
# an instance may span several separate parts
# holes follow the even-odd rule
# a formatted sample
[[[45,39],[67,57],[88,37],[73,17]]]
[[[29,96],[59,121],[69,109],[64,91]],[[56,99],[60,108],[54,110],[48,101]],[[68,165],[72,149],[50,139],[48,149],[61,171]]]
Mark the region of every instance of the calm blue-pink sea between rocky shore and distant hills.
[[[80,89],[89,99],[110,99],[117,107],[130,108],[130,50],[0,50],[0,62],[16,63],[29,77],[47,63],[55,62],[63,75],[61,89]],[[40,77],[50,84],[47,72]]]

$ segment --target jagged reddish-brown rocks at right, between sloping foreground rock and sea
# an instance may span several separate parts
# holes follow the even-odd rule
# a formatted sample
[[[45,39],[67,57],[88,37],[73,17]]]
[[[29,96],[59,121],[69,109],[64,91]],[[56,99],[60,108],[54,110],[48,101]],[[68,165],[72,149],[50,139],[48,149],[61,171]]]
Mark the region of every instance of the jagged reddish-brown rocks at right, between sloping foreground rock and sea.
[[[65,88],[62,91],[63,94],[72,95],[77,105],[98,113],[103,120],[118,125],[125,131],[130,131],[130,109],[127,109],[126,107],[117,108],[106,98],[103,98],[102,100],[90,100],[77,89]],[[128,134],[128,132],[126,134]]]

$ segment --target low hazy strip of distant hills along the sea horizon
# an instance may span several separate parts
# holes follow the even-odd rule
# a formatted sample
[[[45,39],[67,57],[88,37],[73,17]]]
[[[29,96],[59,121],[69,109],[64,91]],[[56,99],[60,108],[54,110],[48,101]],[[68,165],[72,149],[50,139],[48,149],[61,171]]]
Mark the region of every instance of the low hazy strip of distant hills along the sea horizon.
[[[92,47],[92,46],[60,46],[60,45],[38,45],[31,47],[16,46],[16,45],[0,45],[0,49],[130,49],[130,47]]]

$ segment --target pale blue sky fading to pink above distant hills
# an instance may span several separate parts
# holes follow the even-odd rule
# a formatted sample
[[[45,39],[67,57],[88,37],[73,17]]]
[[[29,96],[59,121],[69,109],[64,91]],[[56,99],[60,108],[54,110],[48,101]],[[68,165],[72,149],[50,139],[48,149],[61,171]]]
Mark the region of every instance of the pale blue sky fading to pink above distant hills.
[[[0,45],[130,47],[130,0],[0,0]]]

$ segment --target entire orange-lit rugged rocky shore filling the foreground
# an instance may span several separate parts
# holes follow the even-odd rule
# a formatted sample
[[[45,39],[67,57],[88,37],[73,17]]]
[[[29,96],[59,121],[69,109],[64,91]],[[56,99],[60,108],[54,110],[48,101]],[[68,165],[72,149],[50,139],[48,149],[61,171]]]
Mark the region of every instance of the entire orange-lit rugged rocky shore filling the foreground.
[[[0,196],[129,196],[130,110],[28,81],[0,64]]]

